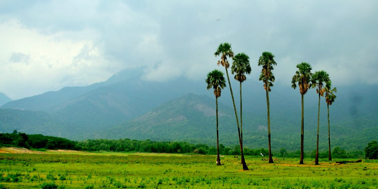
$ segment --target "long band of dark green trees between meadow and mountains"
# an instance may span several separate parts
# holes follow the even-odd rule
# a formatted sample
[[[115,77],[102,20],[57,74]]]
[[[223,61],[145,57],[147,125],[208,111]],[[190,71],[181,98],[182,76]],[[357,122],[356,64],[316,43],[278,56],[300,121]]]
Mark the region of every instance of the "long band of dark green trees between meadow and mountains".
[[[369,143],[370,144],[370,143]],[[179,141],[151,141],[147,140],[130,140],[130,139],[88,139],[85,141],[71,141],[65,138],[28,135],[15,130],[13,133],[0,133],[0,147],[24,147],[28,149],[66,149],[66,150],[83,150],[83,151],[113,151],[113,152],[153,152],[153,153],[197,153],[215,155],[216,147],[206,144],[192,144]],[[374,151],[377,145],[372,143],[370,147]],[[221,155],[240,155],[239,145],[225,146],[219,145]],[[369,151],[369,152],[370,152]],[[261,156],[268,154],[267,149],[249,149],[244,147],[244,155]],[[377,152],[374,152],[377,153]],[[284,148],[273,151],[276,157],[299,157],[300,152],[290,151]],[[332,155],[335,158],[362,158],[365,154],[363,151],[346,151],[336,146],[333,148]],[[305,157],[313,158],[314,151],[305,152]],[[319,153],[319,158],[327,158],[327,151]]]

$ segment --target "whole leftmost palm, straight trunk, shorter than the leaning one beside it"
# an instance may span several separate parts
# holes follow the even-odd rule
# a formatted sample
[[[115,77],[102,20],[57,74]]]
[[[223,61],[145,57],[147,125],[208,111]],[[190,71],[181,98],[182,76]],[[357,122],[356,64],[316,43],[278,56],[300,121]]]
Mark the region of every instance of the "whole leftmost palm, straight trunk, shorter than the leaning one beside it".
[[[218,97],[220,97],[220,93],[222,92],[222,89],[226,87],[226,80],[225,77],[223,77],[223,72],[219,70],[213,70],[208,73],[206,78],[206,84],[208,86],[206,87],[208,90],[213,88],[214,89],[214,95],[215,95],[215,104],[217,105],[217,165],[221,165],[220,163],[220,157],[219,157],[219,135],[218,135]]]

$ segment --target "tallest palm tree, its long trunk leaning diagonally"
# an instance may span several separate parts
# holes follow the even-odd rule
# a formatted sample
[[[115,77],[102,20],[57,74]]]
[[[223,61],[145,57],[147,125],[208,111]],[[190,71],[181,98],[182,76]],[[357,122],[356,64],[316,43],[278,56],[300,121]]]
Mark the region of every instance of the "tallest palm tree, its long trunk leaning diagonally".
[[[228,63],[227,57],[228,58],[234,57],[234,52],[232,52],[231,44],[229,44],[229,43],[220,43],[220,45],[218,46],[217,51],[215,51],[214,55],[215,55],[215,57],[220,56],[220,60],[218,60],[217,64],[218,65],[222,65],[222,66],[224,66],[226,68],[226,75],[227,75],[227,80],[228,80],[228,86],[230,87],[232,103],[234,104],[237,130],[238,130],[238,133],[239,133],[240,155],[241,155],[241,159],[242,159],[243,170],[248,170],[247,164],[245,163],[244,154],[243,154],[243,145],[242,145],[242,139],[241,139],[241,136],[240,136],[239,119],[237,117],[235,100],[234,100],[234,94],[232,93],[230,77],[228,76],[228,71],[227,71],[227,68],[230,66],[230,64]]]

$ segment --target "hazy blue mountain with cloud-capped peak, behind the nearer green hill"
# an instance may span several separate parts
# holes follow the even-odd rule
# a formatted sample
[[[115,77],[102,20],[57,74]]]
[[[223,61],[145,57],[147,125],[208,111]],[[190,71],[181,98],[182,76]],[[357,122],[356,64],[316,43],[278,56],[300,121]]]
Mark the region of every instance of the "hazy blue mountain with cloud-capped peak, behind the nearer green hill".
[[[184,78],[167,82],[144,81],[140,79],[143,73],[141,69],[122,70],[105,82],[87,87],[65,87],[8,102],[0,108],[46,112],[56,121],[81,128],[82,132],[68,131],[65,136],[85,139],[75,136],[130,121],[163,102],[198,88],[195,82]]]

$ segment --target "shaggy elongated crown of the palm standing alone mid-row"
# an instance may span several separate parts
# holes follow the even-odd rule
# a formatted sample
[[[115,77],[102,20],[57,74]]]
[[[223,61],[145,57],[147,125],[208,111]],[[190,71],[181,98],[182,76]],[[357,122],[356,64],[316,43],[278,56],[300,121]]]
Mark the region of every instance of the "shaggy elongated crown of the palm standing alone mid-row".
[[[273,87],[274,76],[272,73],[273,65],[277,65],[274,61],[274,54],[271,52],[263,52],[259,57],[259,66],[262,66],[261,75],[259,77],[260,81],[264,82],[264,89],[271,91],[270,87]],[[268,84],[268,86],[266,86]]]

